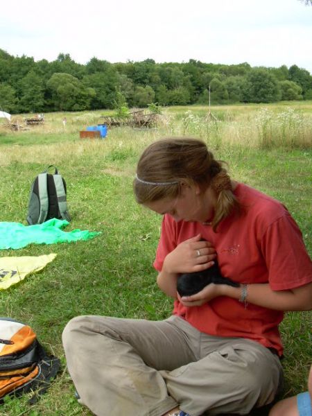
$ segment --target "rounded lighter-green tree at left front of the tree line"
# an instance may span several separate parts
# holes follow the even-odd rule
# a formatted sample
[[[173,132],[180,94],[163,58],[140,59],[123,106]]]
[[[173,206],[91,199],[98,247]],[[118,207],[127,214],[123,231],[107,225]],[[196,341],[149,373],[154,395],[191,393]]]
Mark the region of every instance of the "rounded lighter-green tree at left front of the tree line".
[[[46,86],[51,90],[55,110],[86,110],[96,96],[93,88],[85,87],[78,78],[69,73],[53,73]]]

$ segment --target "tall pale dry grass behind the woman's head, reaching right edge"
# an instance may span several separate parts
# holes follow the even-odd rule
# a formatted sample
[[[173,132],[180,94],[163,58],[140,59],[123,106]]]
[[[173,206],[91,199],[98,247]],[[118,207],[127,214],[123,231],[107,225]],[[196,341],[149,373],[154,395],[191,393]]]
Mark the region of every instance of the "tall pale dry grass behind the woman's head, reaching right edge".
[[[312,114],[293,107],[278,112],[261,107],[241,114],[227,110],[216,114],[216,120],[192,109],[184,112],[178,125],[173,125],[178,135],[196,135],[217,147],[222,144],[265,149],[312,146]]]

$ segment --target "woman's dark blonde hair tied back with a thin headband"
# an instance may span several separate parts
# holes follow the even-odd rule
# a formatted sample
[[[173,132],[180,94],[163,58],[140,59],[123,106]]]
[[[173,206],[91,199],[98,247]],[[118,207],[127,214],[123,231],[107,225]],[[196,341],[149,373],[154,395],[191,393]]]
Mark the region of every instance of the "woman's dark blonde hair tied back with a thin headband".
[[[217,195],[212,220],[216,232],[220,221],[240,208],[223,164],[198,139],[168,137],[155,141],[144,150],[137,164],[135,198],[139,204],[176,198],[182,182],[198,184],[202,191],[211,186]]]

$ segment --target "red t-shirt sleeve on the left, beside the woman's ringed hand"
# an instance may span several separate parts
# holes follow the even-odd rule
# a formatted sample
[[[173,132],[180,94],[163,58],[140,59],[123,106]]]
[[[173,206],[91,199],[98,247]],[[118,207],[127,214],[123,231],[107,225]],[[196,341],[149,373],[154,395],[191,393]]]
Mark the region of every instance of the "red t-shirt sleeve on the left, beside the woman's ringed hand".
[[[164,215],[162,219],[162,230],[160,233],[160,239],[156,250],[156,257],[153,266],[159,272],[162,271],[162,265],[166,255],[172,252],[177,247],[175,222]]]

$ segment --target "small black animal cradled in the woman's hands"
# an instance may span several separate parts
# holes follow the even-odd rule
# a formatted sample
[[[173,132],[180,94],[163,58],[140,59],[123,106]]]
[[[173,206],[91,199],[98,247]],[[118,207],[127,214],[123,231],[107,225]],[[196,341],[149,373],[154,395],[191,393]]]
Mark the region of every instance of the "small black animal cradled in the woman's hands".
[[[220,273],[218,261],[214,260],[214,266],[202,272],[184,273],[177,278],[177,293],[180,296],[191,296],[200,292],[210,283],[228,284],[229,286],[239,287],[236,281],[223,277]]]

